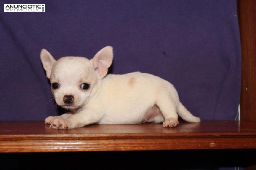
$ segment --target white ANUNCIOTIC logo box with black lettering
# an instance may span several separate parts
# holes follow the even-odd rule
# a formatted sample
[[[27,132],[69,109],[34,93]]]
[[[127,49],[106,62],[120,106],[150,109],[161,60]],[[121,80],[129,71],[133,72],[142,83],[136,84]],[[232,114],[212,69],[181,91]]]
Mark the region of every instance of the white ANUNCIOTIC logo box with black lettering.
[[[4,4],[4,12],[45,12],[45,4]]]

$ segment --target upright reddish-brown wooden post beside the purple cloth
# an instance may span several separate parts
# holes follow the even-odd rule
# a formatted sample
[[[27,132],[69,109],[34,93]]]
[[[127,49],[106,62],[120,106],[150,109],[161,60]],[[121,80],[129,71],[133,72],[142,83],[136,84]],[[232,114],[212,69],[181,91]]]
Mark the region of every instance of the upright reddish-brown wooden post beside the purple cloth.
[[[242,121],[256,122],[256,0],[238,0],[242,47]]]

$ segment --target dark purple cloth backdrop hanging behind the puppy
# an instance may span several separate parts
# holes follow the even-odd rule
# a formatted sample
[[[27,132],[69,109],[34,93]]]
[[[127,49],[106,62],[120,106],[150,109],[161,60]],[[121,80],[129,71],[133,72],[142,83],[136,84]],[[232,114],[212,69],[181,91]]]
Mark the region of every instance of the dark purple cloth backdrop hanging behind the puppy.
[[[192,114],[236,117],[241,51],[235,0],[11,3],[45,3],[46,12],[0,11],[0,121],[58,114],[39,57],[42,48],[56,59],[92,58],[106,45],[114,47],[110,73],[152,73],[176,87]]]

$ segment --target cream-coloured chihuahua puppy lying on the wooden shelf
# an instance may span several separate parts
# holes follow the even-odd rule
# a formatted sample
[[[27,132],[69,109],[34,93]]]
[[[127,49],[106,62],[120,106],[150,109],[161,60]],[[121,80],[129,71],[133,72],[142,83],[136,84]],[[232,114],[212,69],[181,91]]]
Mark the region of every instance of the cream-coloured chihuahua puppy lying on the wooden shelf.
[[[111,46],[98,51],[91,60],[62,57],[56,61],[46,49],[42,49],[40,58],[56,103],[69,110],[47,117],[45,123],[51,128],[145,122],[176,127],[178,115],[188,122],[200,122],[180,103],[168,81],[140,72],[106,75],[113,59]]]

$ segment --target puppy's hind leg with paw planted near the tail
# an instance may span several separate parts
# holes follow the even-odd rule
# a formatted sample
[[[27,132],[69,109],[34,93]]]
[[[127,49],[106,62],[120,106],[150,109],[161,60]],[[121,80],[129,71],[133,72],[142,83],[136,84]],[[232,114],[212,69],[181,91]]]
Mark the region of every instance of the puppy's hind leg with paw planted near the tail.
[[[176,127],[179,123],[177,105],[172,97],[166,94],[160,95],[156,100],[156,105],[164,116],[163,127]]]

